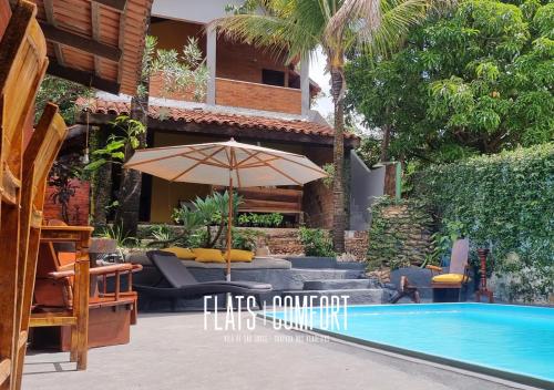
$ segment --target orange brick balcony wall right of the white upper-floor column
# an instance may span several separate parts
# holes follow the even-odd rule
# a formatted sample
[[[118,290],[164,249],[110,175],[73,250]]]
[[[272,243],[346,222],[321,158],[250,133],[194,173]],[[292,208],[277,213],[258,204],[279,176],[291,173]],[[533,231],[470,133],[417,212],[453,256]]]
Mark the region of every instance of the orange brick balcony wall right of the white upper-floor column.
[[[228,79],[216,79],[215,102],[236,107],[301,113],[300,90]]]

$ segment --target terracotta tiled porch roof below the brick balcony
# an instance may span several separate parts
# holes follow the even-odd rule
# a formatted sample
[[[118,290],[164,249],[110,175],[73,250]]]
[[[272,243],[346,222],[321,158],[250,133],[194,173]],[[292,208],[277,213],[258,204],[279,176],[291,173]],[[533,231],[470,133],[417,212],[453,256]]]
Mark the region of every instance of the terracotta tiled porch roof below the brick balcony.
[[[79,100],[78,105],[96,114],[121,115],[129,114],[131,104],[124,101],[106,101],[101,99]],[[280,131],[288,133],[301,133],[307,135],[334,136],[335,130],[326,124],[305,120],[273,119],[256,115],[237,115],[213,112],[203,109],[163,107],[150,105],[148,116],[163,121],[183,121],[186,123],[214,124],[222,126],[235,126],[239,129],[259,129],[268,131]],[[355,134],[345,133],[346,138],[357,138]]]

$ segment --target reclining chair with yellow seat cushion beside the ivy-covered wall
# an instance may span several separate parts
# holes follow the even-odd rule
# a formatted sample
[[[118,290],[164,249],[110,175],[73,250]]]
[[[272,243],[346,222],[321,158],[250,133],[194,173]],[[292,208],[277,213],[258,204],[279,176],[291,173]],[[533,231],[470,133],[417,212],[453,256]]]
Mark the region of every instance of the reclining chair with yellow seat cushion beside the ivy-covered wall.
[[[442,274],[443,268],[438,266],[427,266],[433,274],[431,288],[433,289],[433,301],[449,301],[444,289],[458,289],[458,301],[462,299],[462,290],[468,290],[470,280],[468,255],[470,252],[470,242],[468,238],[455,240],[452,245],[452,256],[448,274]],[[437,273],[437,275],[435,275]],[[441,290],[442,294],[439,294]]]

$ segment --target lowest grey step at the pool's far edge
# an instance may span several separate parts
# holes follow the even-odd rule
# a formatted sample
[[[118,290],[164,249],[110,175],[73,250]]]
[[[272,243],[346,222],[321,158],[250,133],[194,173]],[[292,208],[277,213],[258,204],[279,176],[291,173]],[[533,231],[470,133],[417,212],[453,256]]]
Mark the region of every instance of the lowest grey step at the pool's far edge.
[[[298,297],[299,299],[304,297],[316,297],[315,300],[318,301],[321,297],[332,296],[336,297],[348,297],[348,305],[380,305],[387,304],[391,297],[391,290],[382,288],[357,288],[357,289],[331,289],[331,290],[289,290],[283,291],[281,297],[290,296],[293,298]],[[340,298],[340,304],[342,305],[342,298]],[[330,301],[329,301],[330,302]]]

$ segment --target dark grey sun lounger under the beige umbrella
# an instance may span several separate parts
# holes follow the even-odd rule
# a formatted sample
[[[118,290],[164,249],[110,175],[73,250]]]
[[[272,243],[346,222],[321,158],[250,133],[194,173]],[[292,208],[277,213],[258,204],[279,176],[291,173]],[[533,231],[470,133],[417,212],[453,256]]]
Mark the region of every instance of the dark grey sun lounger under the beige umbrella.
[[[197,281],[191,271],[174,255],[162,250],[146,253],[152,264],[160,270],[164,279],[171,285],[162,287],[160,283],[155,286],[143,286],[134,284],[133,287],[140,295],[150,298],[168,299],[172,310],[175,310],[177,299],[197,299],[206,295],[232,294],[254,296],[256,304],[261,307],[260,294],[270,292],[271,285],[257,281]]]

